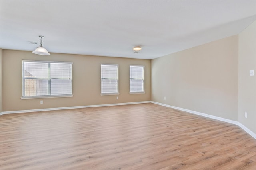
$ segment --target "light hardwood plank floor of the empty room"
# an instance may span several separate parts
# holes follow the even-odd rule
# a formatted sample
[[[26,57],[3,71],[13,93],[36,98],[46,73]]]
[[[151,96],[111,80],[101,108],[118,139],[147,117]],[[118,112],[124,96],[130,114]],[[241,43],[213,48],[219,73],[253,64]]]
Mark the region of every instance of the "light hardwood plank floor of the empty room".
[[[0,116],[1,170],[256,170],[236,125],[156,104]]]

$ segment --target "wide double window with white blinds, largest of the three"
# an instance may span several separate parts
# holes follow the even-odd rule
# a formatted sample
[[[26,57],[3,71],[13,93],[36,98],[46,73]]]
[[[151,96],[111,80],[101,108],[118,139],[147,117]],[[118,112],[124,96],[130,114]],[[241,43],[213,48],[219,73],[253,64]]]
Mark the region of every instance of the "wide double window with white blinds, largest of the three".
[[[22,61],[22,99],[72,96],[72,64]]]

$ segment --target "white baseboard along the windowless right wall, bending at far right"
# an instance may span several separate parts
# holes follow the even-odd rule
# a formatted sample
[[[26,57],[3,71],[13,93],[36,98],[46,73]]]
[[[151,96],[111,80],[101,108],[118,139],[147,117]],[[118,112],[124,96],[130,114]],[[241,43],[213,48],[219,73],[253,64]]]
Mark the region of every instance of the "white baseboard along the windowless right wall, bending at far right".
[[[238,125],[238,126],[241,127],[244,131],[246,131],[249,135],[251,135],[252,137],[254,137],[254,139],[256,139],[256,134],[255,134],[254,132],[252,132],[250,129],[248,129],[246,126],[244,126],[242,123],[238,122],[238,121],[233,121],[233,120],[230,120],[230,119],[225,119],[225,118],[218,117],[218,116],[208,115],[208,114],[205,114],[205,113],[200,113],[200,112],[197,112],[197,111],[192,111],[192,110],[188,110],[188,109],[183,109],[183,108],[180,108],[180,107],[171,106],[171,105],[167,105],[167,104],[162,104],[162,103],[158,103],[158,102],[153,102],[153,101],[151,101],[151,103],[158,104],[158,105],[161,105],[161,106],[170,107],[170,108],[177,109],[177,110],[181,110],[181,111],[186,111],[186,112],[188,112],[188,113],[193,113],[193,114],[201,115],[201,116],[204,116],[204,117],[209,117],[209,118],[216,119],[216,120],[220,120],[220,121],[224,121],[224,122],[227,122],[227,123],[232,123],[232,124],[234,124],[234,125]]]

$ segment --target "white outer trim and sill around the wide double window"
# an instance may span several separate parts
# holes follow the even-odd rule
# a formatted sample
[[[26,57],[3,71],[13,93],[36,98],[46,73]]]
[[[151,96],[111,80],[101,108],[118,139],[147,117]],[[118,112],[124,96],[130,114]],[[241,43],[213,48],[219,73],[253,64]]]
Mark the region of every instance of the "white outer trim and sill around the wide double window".
[[[65,62],[65,61],[42,61],[42,60],[22,60],[23,62],[37,62],[37,63],[64,63],[64,64],[72,64],[72,74],[73,74],[73,62]],[[22,66],[23,69],[23,66]],[[22,70],[23,74],[23,70]],[[22,79],[23,79],[22,75]],[[44,96],[23,96],[24,84],[22,80],[22,96],[20,97],[23,99],[41,99],[41,98],[66,98],[66,97],[73,97],[73,75],[72,75],[72,83],[71,83],[71,93],[72,94],[64,94],[64,95],[44,95]]]

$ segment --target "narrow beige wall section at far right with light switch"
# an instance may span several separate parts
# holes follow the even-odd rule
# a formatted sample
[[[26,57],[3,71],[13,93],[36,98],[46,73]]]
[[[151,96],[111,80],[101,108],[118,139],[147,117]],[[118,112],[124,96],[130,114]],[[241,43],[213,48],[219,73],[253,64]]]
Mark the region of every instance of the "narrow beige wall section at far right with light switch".
[[[238,65],[238,120],[256,133],[256,21],[239,34]]]

